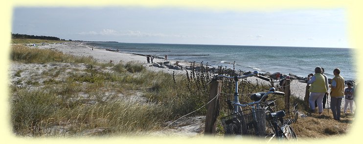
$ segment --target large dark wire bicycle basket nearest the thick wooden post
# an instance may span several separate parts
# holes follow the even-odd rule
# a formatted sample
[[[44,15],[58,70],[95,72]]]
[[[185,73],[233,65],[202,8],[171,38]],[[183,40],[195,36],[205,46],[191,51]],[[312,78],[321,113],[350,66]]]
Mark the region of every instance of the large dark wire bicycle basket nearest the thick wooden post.
[[[266,110],[249,108],[222,118],[226,134],[230,135],[266,135]]]

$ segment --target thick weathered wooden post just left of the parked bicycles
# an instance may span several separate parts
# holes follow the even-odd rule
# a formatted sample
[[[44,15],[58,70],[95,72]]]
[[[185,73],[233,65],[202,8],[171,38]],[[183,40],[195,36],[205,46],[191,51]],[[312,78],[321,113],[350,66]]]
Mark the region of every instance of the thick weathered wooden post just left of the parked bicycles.
[[[207,113],[205,116],[204,135],[216,134],[216,122],[220,110],[220,92],[222,90],[222,82],[220,80],[212,80],[209,92],[209,99],[213,100],[208,104]]]

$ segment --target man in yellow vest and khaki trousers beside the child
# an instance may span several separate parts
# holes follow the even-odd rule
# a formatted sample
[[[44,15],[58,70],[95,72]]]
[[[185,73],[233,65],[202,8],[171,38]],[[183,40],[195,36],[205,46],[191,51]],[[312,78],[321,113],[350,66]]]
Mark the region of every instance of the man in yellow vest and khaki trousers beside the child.
[[[341,99],[344,97],[344,78],[340,76],[340,69],[334,69],[335,77],[332,79],[330,90],[330,105],[333,112],[334,120],[340,121],[340,105]]]

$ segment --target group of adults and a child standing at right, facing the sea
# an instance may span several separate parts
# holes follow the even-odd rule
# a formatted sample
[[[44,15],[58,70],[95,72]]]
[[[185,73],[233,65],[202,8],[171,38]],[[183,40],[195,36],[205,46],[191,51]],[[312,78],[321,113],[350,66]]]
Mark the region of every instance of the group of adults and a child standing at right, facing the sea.
[[[347,83],[348,88],[345,88],[345,81],[342,76],[340,76],[340,69],[334,69],[333,71],[334,78],[332,79],[331,85],[328,84],[328,78],[324,74],[324,69],[321,67],[315,68],[315,74],[308,75],[308,85],[311,84],[309,91],[309,106],[310,112],[315,112],[315,102],[318,105],[318,114],[322,114],[323,112],[323,99],[326,99],[328,95],[330,95],[330,105],[331,110],[333,112],[333,117],[335,120],[340,121],[340,106],[341,100],[345,95],[345,106],[344,112],[346,112],[346,108],[348,103],[350,104],[350,111],[353,113],[352,102],[354,98],[354,89],[351,87],[351,83]],[[328,90],[330,88],[330,93]],[[351,101],[350,101],[351,100]]]

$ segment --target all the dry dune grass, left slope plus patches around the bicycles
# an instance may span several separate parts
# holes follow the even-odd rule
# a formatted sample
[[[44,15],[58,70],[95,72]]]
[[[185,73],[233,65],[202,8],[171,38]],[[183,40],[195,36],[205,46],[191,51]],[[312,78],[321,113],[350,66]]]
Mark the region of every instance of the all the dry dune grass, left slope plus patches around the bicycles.
[[[45,81],[25,80],[27,86],[12,85],[10,93],[11,122],[19,136],[114,136],[137,135],[161,129],[165,122],[206,104],[212,74],[189,71],[187,75],[171,75],[147,71],[136,62],[117,64],[98,63],[92,57],[79,57],[54,50],[13,45],[11,58],[23,63],[80,63],[85,70],[66,72],[57,68],[43,72]],[[104,72],[110,69],[113,72]],[[220,71],[226,71],[220,68]],[[14,76],[22,77],[22,70]],[[59,79],[60,75],[67,75]],[[224,80],[223,93],[234,92],[234,82]],[[29,89],[32,88],[32,89]],[[270,86],[241,80],[240,93],[268,90]],[[231,95],[221,96],[220,117],[226,116],[224,103]],[[241,96],[244,101],[249,96]],[[306,112],[302,100],[291,98]],[[278,99],[277,105],[283,106]],[[191,115],[204,115],[202,108]],[[332,119],[331,113],[299,118],[292,126],[299,138],[327,138],[347,133],[353,116],[342,116],[342,122]],[[218,120],[219,121],[219,120]],[[333,124],[333,125],[331,125]],[[223,134],[221,123],[217,131]]]

